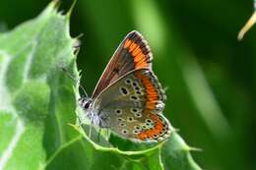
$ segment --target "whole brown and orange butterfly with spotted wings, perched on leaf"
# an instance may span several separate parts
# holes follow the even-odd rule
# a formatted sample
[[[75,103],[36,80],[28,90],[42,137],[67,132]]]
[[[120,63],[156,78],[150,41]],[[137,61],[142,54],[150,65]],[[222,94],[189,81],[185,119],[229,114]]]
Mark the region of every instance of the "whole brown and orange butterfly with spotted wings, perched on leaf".
[[[78,101],[93,125],[137,142],[169,138],[170,124],[161,113],[166,96],[152,70],[152,59],[141,33],[128,33],[103,71],[92,97]]]

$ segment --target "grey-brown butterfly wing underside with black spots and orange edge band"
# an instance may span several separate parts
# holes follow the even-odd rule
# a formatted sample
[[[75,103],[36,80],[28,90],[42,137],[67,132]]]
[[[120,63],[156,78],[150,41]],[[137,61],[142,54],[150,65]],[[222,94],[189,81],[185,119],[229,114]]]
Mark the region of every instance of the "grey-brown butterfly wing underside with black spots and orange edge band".
[[[96,98],[105,126],[120,136],[139,141],[162,141],[170,126],[161,115],[165,101],[157,77],[150,69],[135,70],[108,86]]]

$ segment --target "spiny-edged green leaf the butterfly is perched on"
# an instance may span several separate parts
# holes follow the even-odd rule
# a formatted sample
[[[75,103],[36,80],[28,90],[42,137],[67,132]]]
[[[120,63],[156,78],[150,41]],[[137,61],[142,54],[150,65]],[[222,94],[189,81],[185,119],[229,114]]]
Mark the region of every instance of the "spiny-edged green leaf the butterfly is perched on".
[[[0,169],[200,169],[190,147],[173,130],[168,142],[134,143],[105,132],[88,137],[89,124],[76,104],[78,86],[61,71],[79,79],[76,38],[69,17],[57,1],[35,19],[0,33]],[[72,7],[73,8],[73,7]]]

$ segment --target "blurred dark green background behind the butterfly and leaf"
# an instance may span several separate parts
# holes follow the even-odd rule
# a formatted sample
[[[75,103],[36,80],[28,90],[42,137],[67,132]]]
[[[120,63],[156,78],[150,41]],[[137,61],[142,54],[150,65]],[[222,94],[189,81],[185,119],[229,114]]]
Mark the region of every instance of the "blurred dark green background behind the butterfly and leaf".
[[[0,30],[37,16],[50,1],[2,0]],[[67,11],[73,1],[62,1]],[[93,92],[123,37],[139,30],[167,87],[164,114],[207,170],[256,169],[256,30],[237,33],[253,12],[249,1],[78,0],[71,34],[83,33],[78,67]]]

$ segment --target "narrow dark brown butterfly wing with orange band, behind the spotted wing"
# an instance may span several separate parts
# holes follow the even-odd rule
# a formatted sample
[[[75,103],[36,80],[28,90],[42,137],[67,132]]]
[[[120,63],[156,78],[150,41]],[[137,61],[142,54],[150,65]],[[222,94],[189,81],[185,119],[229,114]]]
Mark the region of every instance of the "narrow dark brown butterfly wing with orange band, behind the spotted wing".
[[[138,31],[131,31],[107,64],[92,97],[96,98],[108,85],[133,70],[151,68],[151,61],[152,53],[147,41]]]

